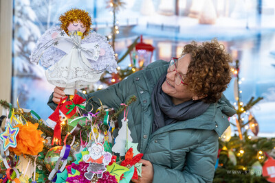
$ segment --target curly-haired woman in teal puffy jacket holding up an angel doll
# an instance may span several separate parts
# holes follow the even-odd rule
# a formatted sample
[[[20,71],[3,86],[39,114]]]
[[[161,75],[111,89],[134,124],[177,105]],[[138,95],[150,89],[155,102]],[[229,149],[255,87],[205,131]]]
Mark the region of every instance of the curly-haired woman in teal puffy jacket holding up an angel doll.
[[[137,97],[129,107],[129,129],[144,156],[142,177],[133,182],[212,182],[218,138],[235,113],[222,95],[231,60],[217,40],[192,42],[179,59],[153,62],[105,90],[79,93],[113,108]],[[49,106],[65,95],[62,90],[54,89]]]

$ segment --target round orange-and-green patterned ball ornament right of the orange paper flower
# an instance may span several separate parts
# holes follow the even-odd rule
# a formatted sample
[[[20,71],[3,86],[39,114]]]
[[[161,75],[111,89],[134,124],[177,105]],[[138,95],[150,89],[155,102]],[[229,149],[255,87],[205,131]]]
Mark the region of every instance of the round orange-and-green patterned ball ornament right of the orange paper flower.
[[[47,154],[44,159],[44,163],[45,163],[48,171],[52,171],[52,169],[54,169],[56,162],[57,162],[58,158],[60,157],[62,149],[63,149],[63,146],[55,146],[55,147],[52,147],[51,149],[49,149],[49,151],[47,151]],[[74,160],[74,158],[72,156],[72,153],[70,152],[69,156],[67,158],[67,164],[71,164],[73,160]]]

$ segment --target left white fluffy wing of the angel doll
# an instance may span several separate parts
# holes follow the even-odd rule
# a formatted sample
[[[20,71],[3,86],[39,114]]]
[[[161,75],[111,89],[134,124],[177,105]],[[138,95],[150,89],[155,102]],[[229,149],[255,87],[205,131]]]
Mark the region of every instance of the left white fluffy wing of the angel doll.
[[[56,33],[56,38],[52,38],[54,33]],[[61,60],[73,46],[72,42],[67,41],[69,36],[67,36],[68,39],[66,36],[67,34],[59,26],[47,29],[37,40],[34,49],[32,49],[30,62],[38,64],[39,60],[41,60],[41,65],[48,67]]]

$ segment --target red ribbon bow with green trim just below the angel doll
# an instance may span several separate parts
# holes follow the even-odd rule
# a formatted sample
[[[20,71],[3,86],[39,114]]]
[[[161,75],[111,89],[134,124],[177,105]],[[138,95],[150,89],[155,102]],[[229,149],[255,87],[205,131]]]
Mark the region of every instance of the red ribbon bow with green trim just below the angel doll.
[[[76,114],[77,108],[85,108],[80,104],[86,99],[83,99],[83,97],[79,95],[75,95],[73,101],[65,101],[66,99],[67,97],[61,98],[56,110],[54,110],[54,113],[52,113],[46,121],[50,127],[54,127],[52,145],[54,145],[54,143],[61,145],[61,123]]]

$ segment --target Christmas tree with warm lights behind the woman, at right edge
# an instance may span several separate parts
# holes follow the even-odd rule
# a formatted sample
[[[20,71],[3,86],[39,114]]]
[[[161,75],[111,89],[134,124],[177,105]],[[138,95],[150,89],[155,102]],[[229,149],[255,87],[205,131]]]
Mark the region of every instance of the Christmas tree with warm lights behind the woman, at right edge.
[[[236,114],[231,123],[237,128],[238,135],[231,136],[228,127],[219,139],[219,157],[213,182],[272,182],[272,166],[267,161],[272,161],[269,155],[275,149],[275,138],[258,137],[259,124],[253,117],[250,109],[263,97],[243,103],[239,84],[239,60],[236,60],[232,73],[234,74],[234,97],[236,99]],[[247,117],[249,116],[249,117]],[[245,119],[248,118],[248,121]],[[249,131],[254,136],[249,135]],[[273,166],[275,163],[273,162]],[[267,175],[267,176],[266,176]],[[274,179],[273,179],[274,182]]]

